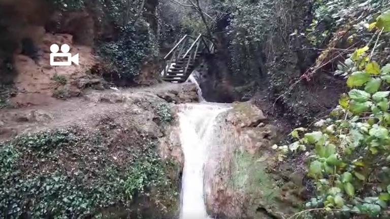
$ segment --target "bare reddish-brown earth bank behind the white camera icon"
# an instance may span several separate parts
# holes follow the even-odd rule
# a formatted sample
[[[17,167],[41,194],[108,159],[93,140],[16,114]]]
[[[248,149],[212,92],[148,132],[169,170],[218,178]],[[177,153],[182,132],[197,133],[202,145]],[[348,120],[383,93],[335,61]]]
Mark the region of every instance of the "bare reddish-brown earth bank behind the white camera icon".
[[[37,27],[37,29],[41,28]],[[54,75],[63,76],[68,81],[77,81],[85,77],[92,66],[98,63],[98,59],[92,55],[92,48],[73,44],[72,35],[51,34],[42,31],[42,42],[37,45],[40,54],[36,60],[22,54],[16,54],[14,57],[14,66],[18,72],[14,83],[19,93],[11,99],[13,105],[49,105],[54,101],[53,92],[59,87],[58,82],[52,80]],[[80,65],[51,66],[50,46],[52,44],[68,44],[71,47],[70,53],[72,55],[79,53]],[[77,90],[78,88],[73,86],[70,89]],[[75,92],[77,93],[77,91]]]

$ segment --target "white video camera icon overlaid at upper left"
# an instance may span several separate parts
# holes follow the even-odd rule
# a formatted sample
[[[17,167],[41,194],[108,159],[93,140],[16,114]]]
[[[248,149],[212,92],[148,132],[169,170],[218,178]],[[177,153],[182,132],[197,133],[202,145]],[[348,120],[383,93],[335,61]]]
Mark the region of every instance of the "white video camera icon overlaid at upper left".
[[[72,62],[75,64],[79,64],[79,54],[77,53],[72,57],[72,54],[69,52],[71,48],[68,44],[63,44],[61,46],[61,53],[58,53],[59,46],[57,44],[53,44],[50,46],[50,65],[52,66],[69,66],[72,65]],[[54,61],[55,57],[66,57],[66,61]]]

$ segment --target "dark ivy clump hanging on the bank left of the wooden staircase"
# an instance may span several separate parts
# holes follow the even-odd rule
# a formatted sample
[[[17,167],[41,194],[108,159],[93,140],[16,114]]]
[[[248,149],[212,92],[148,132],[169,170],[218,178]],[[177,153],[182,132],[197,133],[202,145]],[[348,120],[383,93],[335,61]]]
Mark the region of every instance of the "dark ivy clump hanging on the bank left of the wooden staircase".
[[[146,59],[157,57],[158,46],[154,34],[146,23],[121,28],[117,41],[104,42],[99,53],[110,65],[113,73],[124,80],[132,81],[140,74]]]

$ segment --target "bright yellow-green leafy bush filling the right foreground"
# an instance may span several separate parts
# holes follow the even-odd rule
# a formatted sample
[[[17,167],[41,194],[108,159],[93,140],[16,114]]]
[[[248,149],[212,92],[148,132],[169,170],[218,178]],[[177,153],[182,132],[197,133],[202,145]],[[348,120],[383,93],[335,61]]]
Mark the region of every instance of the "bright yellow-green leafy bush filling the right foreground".
[[[308,164],[312,198],[306,203],[308,209],[294,217],[389,216],[390,64],[382,63],[387,61],[383,54],[388,46],[390,11],[369,13],[366,18],[368,22],[362,23],[365,29],[349,30],[354,33],[348,37],[352,46],[365,46],[352,50],[335,71],[347,79],[348,93],[340,96],[326,119],[314,124],[316,128],[309,127],[311,132],[306,127],[296,128],[291,132],[293,143],[274,147],[281,160],[304,154]],[[362,31],[372,33],[370,39],[353,44],[353,36]],[[322,55],[327,57],[328,52]]]

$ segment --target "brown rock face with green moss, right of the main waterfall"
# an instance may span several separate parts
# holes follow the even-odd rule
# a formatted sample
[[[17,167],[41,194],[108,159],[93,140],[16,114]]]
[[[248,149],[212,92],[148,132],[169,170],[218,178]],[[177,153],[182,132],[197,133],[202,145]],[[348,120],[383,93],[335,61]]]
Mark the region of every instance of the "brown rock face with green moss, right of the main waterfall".
[[[233,103],[220,118],[206,166],[207,208],[218,218],[286,218],[297,211],[302,174],[275,172],[276,127],[249,102]],[[287,180],[285,180],[287,179]]]

